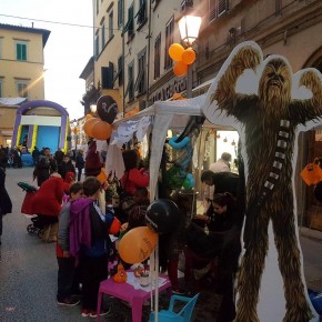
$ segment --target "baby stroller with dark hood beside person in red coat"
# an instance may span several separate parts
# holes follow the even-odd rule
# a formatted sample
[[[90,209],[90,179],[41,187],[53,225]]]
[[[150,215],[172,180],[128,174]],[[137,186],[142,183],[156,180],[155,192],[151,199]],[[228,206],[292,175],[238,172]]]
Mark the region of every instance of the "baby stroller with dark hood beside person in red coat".
[[[29,233],[36,233],[38,237],[42,237],[43,234],[43,227],[46,222],[43,221],[41,215],[37,215],[32,212],[31,203],[32,198],[36,195],[38,188],[27,183],[27,182],[18,182],[18,185],[26,191],[26,195],[21,205],[21,212],[24,214],[33,215],[31,218],[32,223],[28,224],[27,231]]]

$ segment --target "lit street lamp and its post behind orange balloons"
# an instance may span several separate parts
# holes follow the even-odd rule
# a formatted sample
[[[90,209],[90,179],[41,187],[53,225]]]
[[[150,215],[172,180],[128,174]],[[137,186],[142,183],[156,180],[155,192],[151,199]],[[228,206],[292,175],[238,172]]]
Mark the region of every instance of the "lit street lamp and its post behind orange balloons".
[[[182,41],[184,42],[185,47],[190,48],[198,38],[201,26],[201,17],[193,14],[192,12],[187,12],[187,14],[180,18],[178,24]],[[191,97],[192,97],[192,68],[191,66],[189,66],[187,76],[187,98]]]

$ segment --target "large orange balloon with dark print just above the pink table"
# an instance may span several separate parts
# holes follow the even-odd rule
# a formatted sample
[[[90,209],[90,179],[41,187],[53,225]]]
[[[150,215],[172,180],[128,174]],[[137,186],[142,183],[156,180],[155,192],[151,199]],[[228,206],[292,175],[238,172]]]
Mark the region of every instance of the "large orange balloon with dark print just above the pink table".
[[[137,227],[120,240],[119,254],[129,264],[141,263],[151,255],[157,242],[158,233],[148,227]]]

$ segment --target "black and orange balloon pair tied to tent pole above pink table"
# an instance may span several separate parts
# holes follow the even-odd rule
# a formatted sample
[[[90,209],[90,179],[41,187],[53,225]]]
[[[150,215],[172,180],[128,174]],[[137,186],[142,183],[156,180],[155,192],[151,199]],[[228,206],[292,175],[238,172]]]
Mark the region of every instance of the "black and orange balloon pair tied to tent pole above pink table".
[[[157,246],[158,234],[174,232],[181,220],[182,214],[172,200],[155,200],[147,209],[147,227],[133,228],[120,240],[121,259],[129,264],[145,261]]]

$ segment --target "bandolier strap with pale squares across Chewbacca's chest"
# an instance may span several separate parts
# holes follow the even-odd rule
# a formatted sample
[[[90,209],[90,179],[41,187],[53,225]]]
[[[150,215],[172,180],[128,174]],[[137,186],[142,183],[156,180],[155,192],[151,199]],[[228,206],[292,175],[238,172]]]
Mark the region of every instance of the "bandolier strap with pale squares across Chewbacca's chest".
[[[275,157],[272,164],[272,169],[270,171],[269,178],[266,179],[262,189],[260,190],[259,198],[253,203],[253,207],[250,207],[250,209],[246,211],[248,215],[250,213],[256,212],[261,208],[264,201],[272,193],[276,182],[280,179],[280,174],[285,161],[285,151],[290,142],[290,124],[291,122],[289,120],[280,121]]]

